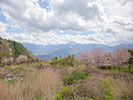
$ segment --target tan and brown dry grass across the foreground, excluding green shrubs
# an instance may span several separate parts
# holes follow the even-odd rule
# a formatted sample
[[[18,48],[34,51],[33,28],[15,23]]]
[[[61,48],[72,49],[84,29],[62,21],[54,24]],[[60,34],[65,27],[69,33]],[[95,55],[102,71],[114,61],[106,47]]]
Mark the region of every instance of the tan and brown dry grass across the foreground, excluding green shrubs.
[[[110,85],[113,93],[112,100],[132,100],[121,99],[124,95],[127,98],[133,97],[133,76],[129,73],[108,72],[84,67],[45,67],[39,70],[23,67],[23,69],[32,71],[31,75],[26,75],[24,82],[5,83],[0,81],[0,100],[54,100],[57,90],[62,86],[61,75],[71,74],[75,70],[88,71],[89,74],[87,80],[79,81],[70,86],[76,87],[75,95],[79,98],[77,100],[81,100],[80,97],[83,96],[94,100],[97,100],[96,97],[102,98],[100,100],[106,100],[104,89],[99,88],[99,85],[101,79],[108,79],[109,77],[113,79]],[[1,70],[1,72],[5,71]]]

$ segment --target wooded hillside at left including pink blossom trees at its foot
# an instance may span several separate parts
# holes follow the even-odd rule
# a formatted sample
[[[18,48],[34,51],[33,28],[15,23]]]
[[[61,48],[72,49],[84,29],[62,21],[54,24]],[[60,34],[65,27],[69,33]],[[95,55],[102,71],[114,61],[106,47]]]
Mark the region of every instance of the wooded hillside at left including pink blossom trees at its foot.
[[[0,38],[0,65],[32,60],[32,53],[19,42]]]

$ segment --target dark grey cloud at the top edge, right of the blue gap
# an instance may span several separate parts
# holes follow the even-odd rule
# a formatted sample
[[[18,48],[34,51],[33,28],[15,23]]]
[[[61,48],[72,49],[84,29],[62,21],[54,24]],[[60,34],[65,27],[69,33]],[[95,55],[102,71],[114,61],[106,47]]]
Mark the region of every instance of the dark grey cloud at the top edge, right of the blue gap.
[[[69,13],[77,14],[86,20],[100,17],[100,4],[91,0],[50,0],[51,9],[55,13],[65,16]]]

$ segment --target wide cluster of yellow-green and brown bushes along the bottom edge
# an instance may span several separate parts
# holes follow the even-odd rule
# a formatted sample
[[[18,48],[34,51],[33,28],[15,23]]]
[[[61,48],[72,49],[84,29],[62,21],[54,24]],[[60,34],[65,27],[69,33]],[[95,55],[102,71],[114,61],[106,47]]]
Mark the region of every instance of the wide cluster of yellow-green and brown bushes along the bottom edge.
[[[95,83],[95,82],[94,82]],[[60,88],[55,100],[112,100],[112,78],[101,79],[94,85],[80,83]]]

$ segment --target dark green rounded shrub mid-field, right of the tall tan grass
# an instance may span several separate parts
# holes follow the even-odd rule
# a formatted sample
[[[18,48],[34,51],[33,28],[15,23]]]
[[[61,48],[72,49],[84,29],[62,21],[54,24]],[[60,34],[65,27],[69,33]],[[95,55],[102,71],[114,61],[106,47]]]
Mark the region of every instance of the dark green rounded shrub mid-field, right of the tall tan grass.
[[[84,80],[87,79],[88,73],[87,72],[80,72],[80,71],[75,71],[71,75],[63,75],[63,82],[64,84],[71,85],[74,82],[77,82],[79,80]]]

